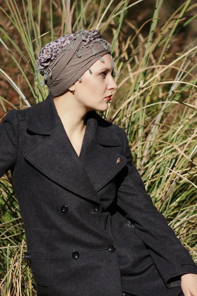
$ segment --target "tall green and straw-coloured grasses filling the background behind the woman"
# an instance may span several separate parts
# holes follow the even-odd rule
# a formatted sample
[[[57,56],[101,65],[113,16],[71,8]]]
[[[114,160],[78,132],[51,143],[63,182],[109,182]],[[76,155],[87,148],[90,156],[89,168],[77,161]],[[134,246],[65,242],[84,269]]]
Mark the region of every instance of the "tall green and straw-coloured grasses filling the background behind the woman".
[[[112,43],[119,71],[102,114],[128,134],[148,193],[197,260],[197,2],[0,0],[0,119],[48,94],[34,80],[41,47],[82,28]],[[23,220],[9,172],[0,180],[0,295],[33,296]]]

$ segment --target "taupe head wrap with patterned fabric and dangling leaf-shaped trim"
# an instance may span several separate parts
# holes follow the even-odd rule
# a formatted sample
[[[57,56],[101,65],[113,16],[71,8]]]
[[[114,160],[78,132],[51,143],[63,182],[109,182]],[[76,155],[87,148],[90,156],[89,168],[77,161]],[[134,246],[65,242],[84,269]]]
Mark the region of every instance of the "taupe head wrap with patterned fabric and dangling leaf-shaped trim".
[[[43,75],[41,85],[46,84],[53,97],[63,94],[98,59],[102,63],[103,55],[110,53],[111,44],[103,39],[98,30],[85,30],[59,37],[42,47],[35,65],[37,72]],[[114,75],[118,75],[114,64]]]

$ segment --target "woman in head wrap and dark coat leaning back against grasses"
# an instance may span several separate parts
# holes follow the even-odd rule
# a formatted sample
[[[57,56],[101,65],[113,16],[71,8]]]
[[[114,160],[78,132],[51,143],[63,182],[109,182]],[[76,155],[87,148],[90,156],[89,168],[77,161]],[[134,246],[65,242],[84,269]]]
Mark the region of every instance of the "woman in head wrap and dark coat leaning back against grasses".
[[[104,120],[117,85],[110,44],[80,30],[46,44],[45,101],[0,125],[38,296],[197,296],[197,266],[153,205],[123,128]],[[182,293],[183,291],[183,293]]]

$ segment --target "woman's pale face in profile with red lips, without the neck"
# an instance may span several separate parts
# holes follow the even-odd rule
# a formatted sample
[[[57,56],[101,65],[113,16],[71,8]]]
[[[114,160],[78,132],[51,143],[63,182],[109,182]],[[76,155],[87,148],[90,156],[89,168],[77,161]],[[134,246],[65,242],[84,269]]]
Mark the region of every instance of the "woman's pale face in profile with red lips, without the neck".
[[[104,63],[97,60],[89,70],[82,76],[82,81],[75,82],[74,97],[80,102],[87,111],[98,110],[106,111],[109,107],[107,96],[112,95],[112,92],[117,89],[117,84],[112,77],[113,60],[110,54],[102,56]]]

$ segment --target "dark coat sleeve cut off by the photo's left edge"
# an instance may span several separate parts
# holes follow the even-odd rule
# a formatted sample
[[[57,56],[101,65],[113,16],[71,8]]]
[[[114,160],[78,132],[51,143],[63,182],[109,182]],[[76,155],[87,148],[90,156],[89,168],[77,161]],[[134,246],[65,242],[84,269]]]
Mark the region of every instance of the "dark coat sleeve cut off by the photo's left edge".
[[[15,164],[18,149],[18,114],[10,110],[0,124],[0,178]]]

